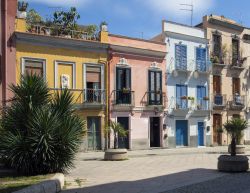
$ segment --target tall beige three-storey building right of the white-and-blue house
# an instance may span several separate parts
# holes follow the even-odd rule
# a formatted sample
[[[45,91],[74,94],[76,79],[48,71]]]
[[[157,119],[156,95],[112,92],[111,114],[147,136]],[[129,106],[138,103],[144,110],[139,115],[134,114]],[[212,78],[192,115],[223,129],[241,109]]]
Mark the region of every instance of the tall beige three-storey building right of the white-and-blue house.
[[[223,124],[231,118],[246,118],[249,42],[244,39],[245,28],[224,16],[204,16],[202,24],[198,26],[206,31],[212,62],[210,94],[213,144],[226,145],[230,143],[230,137],[223,132]]]

